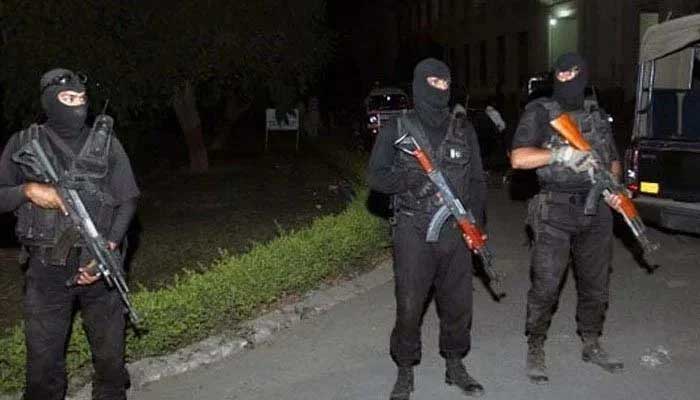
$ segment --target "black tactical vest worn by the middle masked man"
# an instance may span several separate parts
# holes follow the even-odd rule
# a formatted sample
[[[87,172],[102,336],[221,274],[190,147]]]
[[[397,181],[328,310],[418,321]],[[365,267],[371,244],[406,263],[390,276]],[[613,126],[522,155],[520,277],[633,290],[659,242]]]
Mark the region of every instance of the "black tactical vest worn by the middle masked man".
[[[433,149],[430,141],[423,133],[422,125],[415,112],[406,112],[397,120],[398,136],[408,133],[416,139],[418,144],[428,153],[433,164],[439,168],[448,180],[452,191],[462,202],[469,204],[469,181],[472,169],[472,146],[471,138],[475,137],[473,127],[468,122],[463,126],[455,126],[455,119],[452,119],[447,135],[437,149]],[[411,131],[411,127],[418,132]],[[423,173],[415,157],[402,151],[397,152],[395,168],[399,171],[414,170]],[[426,178],[427,179],[427,178]],[[433,185],[427,181],[428,185]],[[422,190],[421,193],[406,191],[394,195],[393,207],[395,212],[408,211],[424,215],[434,214],[441,206],[440,200],[435,194],[428,196],[423,193],[434,191]]]

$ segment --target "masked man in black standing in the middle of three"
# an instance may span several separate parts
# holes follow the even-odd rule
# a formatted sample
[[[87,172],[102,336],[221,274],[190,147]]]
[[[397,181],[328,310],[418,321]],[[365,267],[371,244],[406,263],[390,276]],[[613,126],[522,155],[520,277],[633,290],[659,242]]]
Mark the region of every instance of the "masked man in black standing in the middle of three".
[[[444,224],[438,242],[426,242],[428,224],[440,199],[416,159],[393,146],[400,136],[413,136],[483,226],[486,184],[479,145],[471,124],[453,123],[449,84],[447,65],[435,59],[418,63],[413,78],[415,110],[381,127],[369,162],[370,187],[392,195],[394,208],[396,325],[390,347],[398,378],[391,399],[409,399],[413,391],[413,367],[421,359],[422,315],[432,290],[440,317],[446,382],[468,395],[483,394],[483,387],[462,363],[471,346],[471,253],[454,220]]]

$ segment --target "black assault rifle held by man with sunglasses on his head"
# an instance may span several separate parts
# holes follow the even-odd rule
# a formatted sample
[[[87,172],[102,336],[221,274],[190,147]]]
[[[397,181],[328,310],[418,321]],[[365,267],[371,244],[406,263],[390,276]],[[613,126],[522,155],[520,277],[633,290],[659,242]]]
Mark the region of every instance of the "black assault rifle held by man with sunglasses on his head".
[[[110,116],[101,114],[97,117],[93,129],[111,129],[113,123]],[[107,240],[97,231],[78,192],[75,189],[62,186],[64,183],[62,177],[56,173],[56,169],[51,164],[51,161],[49,161],[38,139],[32,139],[20,149],[17,154],[19,156],[17,157],[17,161],[31,168],[37,176],[43,177],[45,183],[55,185],[68,211],[68,217],[85,241],[88,251],[93,256],[93,261],[87,265],[88,273],[92,275],[101,275],[109,288],[115,288],[119,292],[129,320],[134,325],[134,328],[138,329],[140,322],[139,316],[136,314],[127,296],[129,287],[126,285],[126,281],[121,272],[121,262],[116,255],[109,250]],[[66,286],[72,286],[76,281],[77,276],[66,282]]]

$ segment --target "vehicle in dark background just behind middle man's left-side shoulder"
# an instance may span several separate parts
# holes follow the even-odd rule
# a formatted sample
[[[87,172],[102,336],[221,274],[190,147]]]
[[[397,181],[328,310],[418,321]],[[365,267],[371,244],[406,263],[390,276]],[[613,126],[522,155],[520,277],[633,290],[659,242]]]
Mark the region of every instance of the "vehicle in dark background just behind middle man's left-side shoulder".
[[[364,142],[371,148],[379,127],[411,108],[408,94],[396,87],[376,87],[365,98]]]

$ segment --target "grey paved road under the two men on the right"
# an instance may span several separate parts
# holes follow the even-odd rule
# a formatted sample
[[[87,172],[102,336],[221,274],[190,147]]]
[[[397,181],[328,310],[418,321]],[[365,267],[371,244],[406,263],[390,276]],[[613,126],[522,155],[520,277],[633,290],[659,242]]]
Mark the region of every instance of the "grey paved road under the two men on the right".
[[[626,361],[610,375],[580,361],[575,335],[574,285],[569,280],[547,342],[551,383],[535,386],[523,375],[524,299],[528,287],[525,205],[498,190],[491,194],[490,232],[498,265],[509,275],[509,297],[494,303],[475,287],[473,349],[469,369],[486,387],[486,399],[700,398],[700,239],[652,232],[662,267],[647,274],[618,241],[605,343]],[[208,368],[167,378],[134,391],[131,399],[267,400],[386,399],[395,369],[388,352],[394,319],[389,282],[281,333],[268,345]],[[640,357],[664,346],[669,364],[649,368]],[[443,383],[437,355],[437,320],[428,312],[424,359],[416,370],[414,399],[460,399]]]

